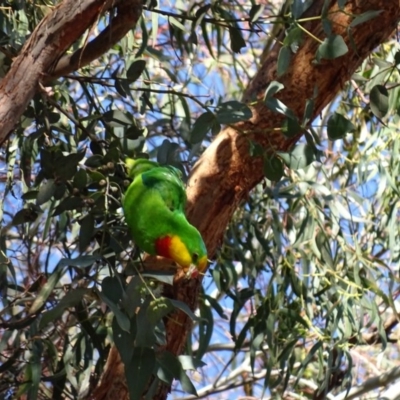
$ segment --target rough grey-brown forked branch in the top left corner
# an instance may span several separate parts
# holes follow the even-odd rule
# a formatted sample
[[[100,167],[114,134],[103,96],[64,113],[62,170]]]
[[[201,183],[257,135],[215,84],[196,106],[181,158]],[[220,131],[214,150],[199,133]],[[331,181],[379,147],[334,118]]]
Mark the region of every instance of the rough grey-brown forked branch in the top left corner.
[[[140,0],[65,0],[36,27],[0,83],[0,144],[2,144],[40,83],[65,75],[104,54],[132,29],[142,11]],[[106,11],[116,13],[91,42],[71,55],[64,53]]]

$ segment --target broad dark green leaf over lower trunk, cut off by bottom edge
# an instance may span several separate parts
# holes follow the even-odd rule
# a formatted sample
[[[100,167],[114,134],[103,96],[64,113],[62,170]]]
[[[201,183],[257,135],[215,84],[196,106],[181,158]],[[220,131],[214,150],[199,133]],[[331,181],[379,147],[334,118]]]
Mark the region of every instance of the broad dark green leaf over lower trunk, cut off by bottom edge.
[[[135,347],[132,360],[125,365],[126,383],[130,400],[141,400],[142,393],[153,374],[156,356],[153,349]]]

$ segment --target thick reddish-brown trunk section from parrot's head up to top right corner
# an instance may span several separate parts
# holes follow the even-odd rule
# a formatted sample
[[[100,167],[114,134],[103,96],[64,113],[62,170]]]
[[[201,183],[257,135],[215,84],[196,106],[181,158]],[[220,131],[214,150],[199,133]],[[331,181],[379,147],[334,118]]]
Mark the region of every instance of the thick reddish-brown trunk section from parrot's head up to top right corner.
[[[315,1],[308,15],[318,16],[324,1]],[[294,55],[290,68],[283,77],[277,78],[276,66],[280,44],[277,43],[261,66],[245,93],[245,99],[262,97],[272,80],[281,82],[285,89],[279,99],[301,118],[307,99],[313,98],[314,117],[329,104],[350,79],[362,61],[380,43],[393,33],[400,15],[398,0],[353,0],[347,2],[344,12],[338,11],[336,1],[330,10],[333,29],[348,44],[349,51],[332,61],[316,64],[314,57],[319,43],[311,37]],[[352,21],[350,15],[369,10],[383,10],[379,17],[347,30]],[[305,28],[314,36],[324,39],[321,21],[312,21]],[[188,213],[206,240],[210,255],[221,243],[226,226],[233,212],[249,191],[263,179],[262,158],[252,157],[249,140],[258,142],[266,152],[285,151],[293,144],[286,139],[280,127],[281,114],[270,111],[262,102],[253,109],[250,121],[228,127],[221,132],[196,164],[188,188]],[[297,140],[298,138],[296,138]]]

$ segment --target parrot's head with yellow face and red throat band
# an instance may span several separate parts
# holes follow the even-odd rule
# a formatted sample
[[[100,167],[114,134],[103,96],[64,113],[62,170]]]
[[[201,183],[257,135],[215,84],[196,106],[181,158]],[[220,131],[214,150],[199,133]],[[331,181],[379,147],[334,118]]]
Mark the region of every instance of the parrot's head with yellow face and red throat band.
[[[193,227],[190,235],[167,235],[155,243],[158,255],[180,265],[188,277],[195,278],[207,267],[207,250],[199,231]]]

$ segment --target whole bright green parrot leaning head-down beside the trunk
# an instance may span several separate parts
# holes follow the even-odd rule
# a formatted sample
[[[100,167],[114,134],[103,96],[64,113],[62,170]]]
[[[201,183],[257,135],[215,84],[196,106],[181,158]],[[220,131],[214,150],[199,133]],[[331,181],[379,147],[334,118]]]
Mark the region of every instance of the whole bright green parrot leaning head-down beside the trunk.
[[[123,200],[133,240],[152,255],[174,260],[187,276],[207,267],[207,250],[200,232],[186,219],[186,191],[182,173],[172,166],[126,159],[129,185]]]

